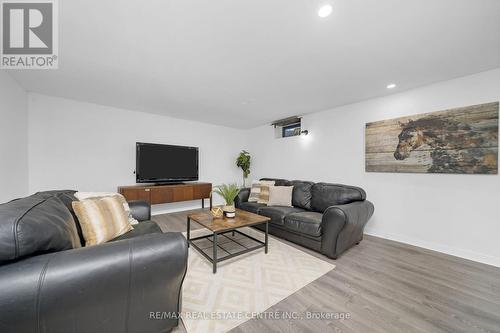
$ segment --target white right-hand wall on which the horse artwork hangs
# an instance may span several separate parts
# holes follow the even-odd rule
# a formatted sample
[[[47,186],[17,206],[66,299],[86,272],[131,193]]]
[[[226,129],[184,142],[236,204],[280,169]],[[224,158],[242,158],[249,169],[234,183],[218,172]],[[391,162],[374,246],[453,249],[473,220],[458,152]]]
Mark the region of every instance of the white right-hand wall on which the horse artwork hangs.
[[[500,176],[366,173],[365,123],[500,100],[500,69],[314,113],[305,137],[251,130],[254,179],[363,187],[375,204],[369,234],[500,266]]]

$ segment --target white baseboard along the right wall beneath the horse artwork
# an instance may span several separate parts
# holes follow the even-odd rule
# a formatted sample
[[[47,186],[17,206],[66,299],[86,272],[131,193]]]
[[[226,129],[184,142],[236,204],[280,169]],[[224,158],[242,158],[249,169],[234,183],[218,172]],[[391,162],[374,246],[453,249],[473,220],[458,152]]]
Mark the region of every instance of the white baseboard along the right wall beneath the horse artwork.
[[[452,247],[444,246],[441,244],[430,243],[430,242],[423,241],[420,239],[409,238],[409,237],[403,236],[403,235],[379,233],[379,232],[373,232],[373,231],[365,232],[365,234],[380,237],[380,238],[390,239],[390,240],[393,240],[396,242],[401,242],[401,243],[406,243],[406,244],[422,247],[422,248],[425,248],[428,250],[437,251],[437,252],[449,254],[449,255],[452,255],[455,257],[460,257],[460,258],[464,258],[464,259],[468,259],[468,260],[472,260],[472,261],[477,261],[477,262],[487,264],[487,265],[500,267],[500,258],[493,257],[493,256],[490,256],[487,254],[477,253],[477,252],[469,251],[469,250],[452,248]]]

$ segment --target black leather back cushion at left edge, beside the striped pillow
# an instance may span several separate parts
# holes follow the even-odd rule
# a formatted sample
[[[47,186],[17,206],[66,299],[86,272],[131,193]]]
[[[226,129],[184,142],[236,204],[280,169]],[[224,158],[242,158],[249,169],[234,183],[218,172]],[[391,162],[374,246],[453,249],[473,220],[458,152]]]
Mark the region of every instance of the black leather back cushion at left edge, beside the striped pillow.
[[[80,247],[69,210],[54,195],[0,205],[0,262]]]

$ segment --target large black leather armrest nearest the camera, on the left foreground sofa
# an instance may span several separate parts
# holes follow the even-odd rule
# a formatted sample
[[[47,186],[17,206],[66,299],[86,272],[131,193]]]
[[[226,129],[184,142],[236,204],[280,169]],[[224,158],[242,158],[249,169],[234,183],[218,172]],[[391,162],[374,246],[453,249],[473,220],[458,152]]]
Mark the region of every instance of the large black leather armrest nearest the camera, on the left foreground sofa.
[[[187,268],[180,233],[39,255],[0,267],[0,332],[166,332]]]

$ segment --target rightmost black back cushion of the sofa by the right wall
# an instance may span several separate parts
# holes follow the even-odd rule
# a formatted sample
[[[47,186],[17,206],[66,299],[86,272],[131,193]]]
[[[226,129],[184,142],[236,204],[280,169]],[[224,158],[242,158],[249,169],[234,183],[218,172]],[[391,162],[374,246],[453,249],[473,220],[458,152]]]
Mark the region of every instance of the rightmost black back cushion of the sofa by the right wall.
[[[328,207],[366,199],[363,189],[342,184],[316,183],[311,189],[311,208],[323,213]]]

